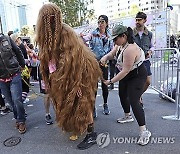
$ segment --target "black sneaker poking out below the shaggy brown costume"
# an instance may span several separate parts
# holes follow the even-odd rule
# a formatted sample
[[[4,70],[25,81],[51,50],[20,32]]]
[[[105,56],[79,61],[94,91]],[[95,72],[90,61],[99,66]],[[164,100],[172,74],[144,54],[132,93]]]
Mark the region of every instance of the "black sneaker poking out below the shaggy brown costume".
[[[92,132],[87,134],[84,140],[77,145],[77,148],[80,150],[85,150],[90,148],[92,145],[96,144],[97,133]]]

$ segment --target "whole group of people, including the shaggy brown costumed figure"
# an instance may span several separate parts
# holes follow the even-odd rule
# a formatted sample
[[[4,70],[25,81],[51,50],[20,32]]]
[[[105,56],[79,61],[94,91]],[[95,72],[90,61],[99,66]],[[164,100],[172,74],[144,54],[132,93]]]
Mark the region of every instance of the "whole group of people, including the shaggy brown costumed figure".
[[[78,36],[63,22],[57,5],[44,4],[36,25],[38,54],[33,44],[22,42],[17,34],[0,36],[1,114],[12,110],[16,128],[21,134],[25,133],[27,115],[23,102],[32,86],[30,81],[39,80],[41,92],[45,94],[46,124],[53,124],[49,111],[52,104],[58,126],[72,133],[70,139],[78,139],[86,132],[77,147],[87,149],[97,138],[94,118],[97,117],[98,82],[101,81],[105,115],[110,114],[109,89],[118,82],[124,117],[117,122],[134,121],[131,107],[139,125],[138,144],[148,144],[151,132],[146,128],[142,95],[151,82],[149,58],[154,46],[146,20],[146,14],[138,12],[134,29],[117,24],[110,31],[108,17],[100,15],[93,32]]]

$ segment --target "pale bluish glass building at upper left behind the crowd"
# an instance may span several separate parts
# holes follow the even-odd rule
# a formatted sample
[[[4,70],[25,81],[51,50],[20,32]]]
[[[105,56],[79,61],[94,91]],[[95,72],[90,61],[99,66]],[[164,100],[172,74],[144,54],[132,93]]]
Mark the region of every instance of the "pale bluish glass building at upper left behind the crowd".
[[[0,0],[0,32],[20,31],[36,24],[39,9],[48,0]]]

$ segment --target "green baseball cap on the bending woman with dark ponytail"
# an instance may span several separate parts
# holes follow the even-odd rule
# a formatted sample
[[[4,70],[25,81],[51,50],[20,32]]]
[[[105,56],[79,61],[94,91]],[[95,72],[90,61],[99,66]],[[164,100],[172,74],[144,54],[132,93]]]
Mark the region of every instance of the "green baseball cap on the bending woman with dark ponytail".
[[[127,31],[127,27],[123,25],[116,25],[112,30],[111,40],[116,38],[119,34],[123,34]]]

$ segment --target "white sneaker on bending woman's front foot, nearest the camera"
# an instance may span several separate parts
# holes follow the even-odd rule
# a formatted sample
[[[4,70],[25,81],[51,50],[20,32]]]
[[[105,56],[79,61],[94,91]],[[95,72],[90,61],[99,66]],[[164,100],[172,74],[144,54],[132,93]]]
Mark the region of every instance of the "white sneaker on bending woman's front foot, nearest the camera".
[[[149,143],[151,137],[151,132],[149,130],[144,130],[140,133],[140,137],[138,140],[139,145],[146,145]]]

